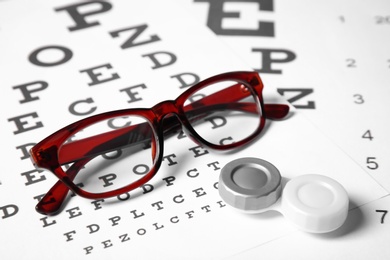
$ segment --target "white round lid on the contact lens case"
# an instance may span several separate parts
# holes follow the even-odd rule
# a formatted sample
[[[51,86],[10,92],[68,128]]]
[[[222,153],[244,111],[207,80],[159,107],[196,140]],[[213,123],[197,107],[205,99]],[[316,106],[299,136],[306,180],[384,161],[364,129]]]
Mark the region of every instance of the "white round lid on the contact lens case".
[[[348,205],[348,194],[340,183],[327,176],[307,174],[287,182],[280,211],[304,231],[325,233],[345,222]]]

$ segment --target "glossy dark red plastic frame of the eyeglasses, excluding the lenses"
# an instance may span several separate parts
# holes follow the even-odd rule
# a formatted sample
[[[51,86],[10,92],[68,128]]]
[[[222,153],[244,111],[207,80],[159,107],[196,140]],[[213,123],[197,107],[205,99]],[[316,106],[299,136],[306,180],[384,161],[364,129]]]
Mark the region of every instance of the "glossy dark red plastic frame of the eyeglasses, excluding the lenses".
[[[194,93],[198,92],[202,88],[205,88],[209,85],[216,84],[218,82],[223,82],[223,81],[234,81],[237,82],[237,84],[227,87],[209,96],[205,96],[200,100],[190,103],[189,105],[188,104],[185,105],[185,102],[189,100],[189,98]],[[261,131],[264,128],[266,118],[273,119],[273,120],[282,119],[289,112],[289,106],[286,104],[264,104],[263,95],[262,95],[263,88],[264,88],[263,82],[260,78],[260,75],[257,72],[252,72],[252,71],[227,72],[200,81],[194,84],[193,86],[191,86],[186,91],[184,91],[175,100],[166,100],[166,101],[159,102],[158,104],[156,104],[155,106],[149,109],[130,108],[130,109],[115,110],[111,112],[97,114],[79,120],[77,122],[74,122],[56,131],[55,133],[46,137],[45,139],[43,139],[41,142],[37,143],[30,149],[30,157],[34,166],[39,170],[41,169],[49,170],[59,179],[57,183],[41,198],[41,200],[36,206],[36,210],[39,213],[45,215],[57,214],[61,206],[63,205],[63,202],[69,190],[73,191],[75,194],[84,198],[104,199],[104,198],[114,197],[129,192],[147,183],[150,179],[152,179],[156,175],[157,171],[161,166],[163,160],[163,150],[164,150],[164,135],[169,131],[172,132],[172,131],[179,130],[181,127],[184,127],[183,130],[185,131],[186,135],[190,139],[192,139],[196,143],[201,144],[202,146],[214,150],[230,150],[248,144],[261,133]],[[230,99],[230,100],[229,99],[226,100],[226,102],[228,103],[235,102],[240,99],[243,99],[244,97],[242,97],[242,94],[245,92],[251,92],[250,94],[252,95],[252,97],[256,98],[255,102],[256,105],[258,106],[257,109],[261,111],[259,125],[257,129],[250,136],[246,137],[241,141],[237,141],[225,145],[217,145],[203,139],[194,130],[190,121],[188,120],[188,116],[186,115],[185,108],[187,107],[194,108],[196,106],[202,106],[202,105],[204,106],[204,104],[202,103],[211,102],[212,98],[215,97],[215,95],[218,95],[219,99],[221,95],[224,95],[224,97],[228,97]],[[232,103],[232,104],[240,104],[240,103]],[[251,108],[243,107],[241,109],[249,110]],[[75,162],[70,166],[70,168],[64,171],[61,165],[66,164],[66,162],[65,163],[60,162],[59,150],[62,149],[64,143],[69,138],[71,138],[75,133],[77,133],[81,129],[84,129],[90,125],[93,125],[103,120],[107,120],[114,117],[129,116],[129,115],[138,115],[147,119],[151,129],[153,130],[152,137],[157,137],[157,140],[151,142],[152,144],[156,144],[156,147],[152,147],[152,149],[154,149],[153,159],[155,160],[153,167],[150,169],[148,173],[146,173],[139,180],[132,182],[119,189],[106,191],[103,193],[91,193],[78,187],[73,182],[73,179],[76,177],[79,170],[86,163],[88,163],[90,160],[95,158],[97,155],[93,158],[88,158],[88,157],[84,159],[75,158],[74,159]],[[167,117],[168,115],[175,115],[176,117],[172,117],[172,116]],[[168,123],[167,126],[167,124],[163,123],[163,121],[169,118],[177,118],[179,120],[179,124],[177,124],[177,120],[176,120],[176,123],[171,122]],[[136,128],[137,125],[133,127]],[[129,131],[130,130],[127,130],[127,132]],[[98,137],[93,136],[91,138],[96,139]]]

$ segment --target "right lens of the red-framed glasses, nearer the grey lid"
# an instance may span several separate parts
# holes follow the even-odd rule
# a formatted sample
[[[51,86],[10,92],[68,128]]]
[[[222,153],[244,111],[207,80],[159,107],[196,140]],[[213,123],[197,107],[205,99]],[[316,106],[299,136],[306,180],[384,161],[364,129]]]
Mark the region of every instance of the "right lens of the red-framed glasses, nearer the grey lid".
[[[224,81],[209,85],[185,103],[194,130],[215,145],[228,145],[253,134],[260,124],[257,98],[241,83]]]

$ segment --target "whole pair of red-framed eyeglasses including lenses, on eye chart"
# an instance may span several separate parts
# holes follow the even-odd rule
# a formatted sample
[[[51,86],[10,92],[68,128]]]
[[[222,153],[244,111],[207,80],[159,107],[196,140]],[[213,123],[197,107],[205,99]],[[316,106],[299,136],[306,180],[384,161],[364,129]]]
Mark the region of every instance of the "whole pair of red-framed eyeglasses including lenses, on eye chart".
[[[150,109],[124,109],[88,117],[55,132],[30,150],[38,169],[59,181],[36,206],[60,211],[69,190],[103,199],[146,184],[163,160],[164,137],[182,130],[211,149],[241,147],[256,138],[265,118],[282,119],[288,105],[264,104],[256,72],[229,72],[201,81],[176,100]]]

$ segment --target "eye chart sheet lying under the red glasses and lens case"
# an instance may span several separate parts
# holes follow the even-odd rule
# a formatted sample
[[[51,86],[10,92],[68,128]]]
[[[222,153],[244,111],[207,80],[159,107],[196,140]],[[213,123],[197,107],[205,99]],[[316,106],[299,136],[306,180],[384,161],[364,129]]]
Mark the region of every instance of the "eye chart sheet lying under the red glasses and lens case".
[[[322,104],[315,68],[310,77],[300,72],[284,78],[286,69],[283,77],[261,74],[265,103],[285,102],[279,94],[291,101],[291,92],[283,89],[291,90],[293,82],[293,87],[314,89],[315,99],[309,95],[298,102],[315,101],[316,111],[292,107],[290,117],[269,120],[261,137],[245,149],[216,153],[178,133],[165,140],[163,165],[148,185],[112,199],[71,197],[56,216],[35,212],[57,181],[34,169],[28,158],[28,149],[42,138],[89,115],[151,107],[201,79],[251,69],[244,56],[192,19],[187,7],[171,1],[0,2],[1,258],[343,258],[360,256],[345,250],[356,245],[371,248],[370,256],[388,256],[388,189],[312,120],[310,113]],[[270,48],[271,40],[257,48]],[[291,50],[279,54],[281,59],[297,56]],[[346,59],[360,64],[355,56]],[[284,64],[268,69],[277,65]],[[355,94],[368,98],[368,92],[353,92],[352,103],[361,99]],[[364,131],[359,138],[375,142],[379,136],[373,129],[365,129],[372,140],[361,138]],[[374,158],[368,165],[379,164],[380,155],[368,156]],[[307,173],[334,178],[349,195],[346,224],[330,234],[309,235],[279,214],[245,215],[229,208],[218,195],[218,176],[226,163],[241,157],[269,160],[288,179]],[[334,250],[324,255],[320,248]]]

